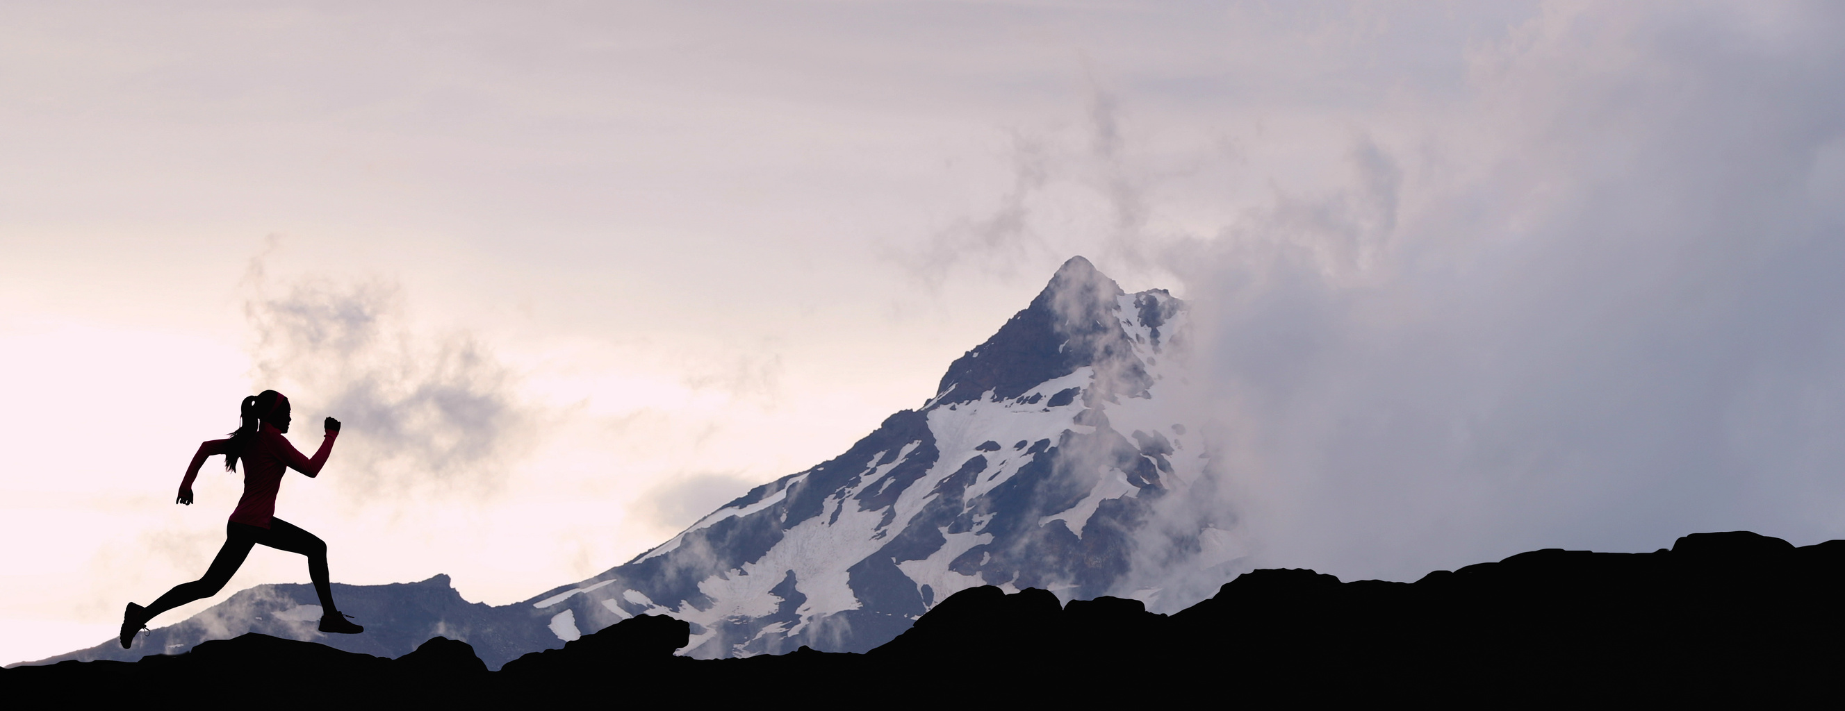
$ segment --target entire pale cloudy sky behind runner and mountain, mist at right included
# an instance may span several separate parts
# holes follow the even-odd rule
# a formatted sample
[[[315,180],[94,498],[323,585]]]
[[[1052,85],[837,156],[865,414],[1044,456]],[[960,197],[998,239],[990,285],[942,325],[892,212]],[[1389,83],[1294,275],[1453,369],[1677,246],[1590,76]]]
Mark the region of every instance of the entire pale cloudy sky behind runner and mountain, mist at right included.
[[[922,403],[1072,254],[1199,309],[1264,565],[1845,536],[1836,4],[0,20],[0,661],[203,573],[244,394],[347,422],[279,503],[338,582],[504,604]]]

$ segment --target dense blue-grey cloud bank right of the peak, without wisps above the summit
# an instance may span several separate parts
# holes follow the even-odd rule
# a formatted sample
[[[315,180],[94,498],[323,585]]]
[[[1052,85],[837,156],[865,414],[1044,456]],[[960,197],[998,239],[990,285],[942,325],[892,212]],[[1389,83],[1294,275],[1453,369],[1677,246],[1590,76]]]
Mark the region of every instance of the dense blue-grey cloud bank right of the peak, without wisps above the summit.
[[[1197,328],[1218,479],[1172,516],[1347,580],[1845,536],[1841,24],[1552,6],[1470,48],[1459,98],[1349,114],[1323,182],[1109,241]]]

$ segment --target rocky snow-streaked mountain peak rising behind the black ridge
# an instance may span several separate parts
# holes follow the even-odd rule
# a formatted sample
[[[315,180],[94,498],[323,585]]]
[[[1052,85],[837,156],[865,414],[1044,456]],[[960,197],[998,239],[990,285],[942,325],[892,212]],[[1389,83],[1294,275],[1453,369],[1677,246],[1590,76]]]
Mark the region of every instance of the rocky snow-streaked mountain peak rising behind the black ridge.
[[[1135,534],[1205,464],[1157,398],[1184,324],[1164,289],[1124,293],[1072,258],[922,407],[533,608],[559,639],[679,617],[688,654],[721,658],[869,650],[985,584],[1135,595]]]

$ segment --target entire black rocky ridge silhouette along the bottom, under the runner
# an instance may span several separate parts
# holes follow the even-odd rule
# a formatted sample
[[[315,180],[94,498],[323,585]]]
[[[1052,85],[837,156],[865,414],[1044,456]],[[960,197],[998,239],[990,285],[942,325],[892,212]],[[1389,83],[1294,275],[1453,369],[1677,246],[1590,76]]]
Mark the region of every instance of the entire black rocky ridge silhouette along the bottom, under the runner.
[[[950,595],[867,654],[803,647],[692,659],[673,656],[690,624],[642,615],[500,672],[445,637],[384,659],[245,634],[138,663],[15,667],[0,672],[0,689],[127,702],[184,680],[196,698],[229,704],[286,682],[303,704],[522,704],[596,702],[607,694],[600,682],[618,680],[690,694],[804,683],[827,694],[915,689],[917,698],[1089,705],[1173,691],[1317,704],[1797,704],[1830,700],[1845,663],[1841,591],[1845,542],[1793,547],[1718,532],[1640,554],[1520,553],[1413,584],[1264,569],[1170,617],[1138,600],[1059,608],[1042,589],[983,586]]]

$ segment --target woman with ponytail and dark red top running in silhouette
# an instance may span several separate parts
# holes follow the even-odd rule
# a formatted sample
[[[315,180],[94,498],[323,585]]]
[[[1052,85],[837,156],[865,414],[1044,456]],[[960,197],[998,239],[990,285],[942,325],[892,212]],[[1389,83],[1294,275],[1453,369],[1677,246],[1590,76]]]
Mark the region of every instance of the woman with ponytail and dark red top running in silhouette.
[[[234,472],[238,457],[244,459],[244,497],[225,525],[225,547],[218,549],[218,558],[212,558],[212,567],[203,578],[173,586],[146,608],[129,602],[122,612],[122,648],[133,645],[135,634],[155,615],[218,595],[256,543],[308,556],[308,577],[314,578],[314,593],[321,597],[321,632],[365,632],[334,606],[332,586],[327,582],[327,543],[275,518],[275,492],[282,488],[282,473],[288,473],[288,468],[310,477],[321,473],[327,455],[334,449],[334,438],[339,437],[339,420],[327,418],[327,438],[310,459],[282,437],[288,433],[290,407],[280,392],[262,390],[244,398],[242,416],[244,424],[231,433],[231,438],[199,444],[199,453],[192,455],[192,466],[186,468],[186,479],[179,483],[177,503],[190,507],[192,479],[199,475],[207,457],[225,455],[225,472]]]

